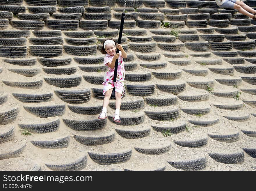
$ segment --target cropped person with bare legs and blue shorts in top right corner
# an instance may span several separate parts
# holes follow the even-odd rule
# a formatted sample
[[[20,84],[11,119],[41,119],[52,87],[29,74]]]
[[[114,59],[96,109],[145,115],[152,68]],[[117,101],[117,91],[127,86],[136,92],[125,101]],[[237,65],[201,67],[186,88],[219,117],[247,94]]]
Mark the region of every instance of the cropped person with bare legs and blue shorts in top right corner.
[[[239,13],[256,20],[256,10],[250,8],[243,1],[239,0],[215,0],[220,8],[237,9]],[[250,12],[250,13],[249,13]],[[252,14],[251,14],[252,13]]]

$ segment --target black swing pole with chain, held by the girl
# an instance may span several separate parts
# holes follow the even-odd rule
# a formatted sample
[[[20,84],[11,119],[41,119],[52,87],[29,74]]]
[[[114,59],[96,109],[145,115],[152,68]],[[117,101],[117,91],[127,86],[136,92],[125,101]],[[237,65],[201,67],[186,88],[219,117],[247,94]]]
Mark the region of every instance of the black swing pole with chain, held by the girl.
[[[125,7],[126,7],[126,0],[125,0],[125,5],[124,5],[124,11],[123,11],[122,17],[121,17],[119,36],[118,36],[118,44],[121,44],[121,40],[122,40],[122,33],[123,33],[124,22],[125,22]],[[118,48],[116,48],[116,53],[119,53],[119,51],[120,50]],[[114,70],[113,82],[116,82],[117,68],[118,68],[118,59],[115,60],[115,70]],[[111,97],[115,98],[115,86],[112,89]]]

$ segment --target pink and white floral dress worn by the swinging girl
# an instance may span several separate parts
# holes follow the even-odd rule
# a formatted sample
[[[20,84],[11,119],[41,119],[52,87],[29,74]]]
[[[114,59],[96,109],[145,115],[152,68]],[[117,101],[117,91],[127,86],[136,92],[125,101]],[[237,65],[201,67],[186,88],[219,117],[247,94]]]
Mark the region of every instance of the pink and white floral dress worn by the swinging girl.
[[[112,62],[114,56],[111,56],[109,54],[106,54],[104,57],[104,64],[108,66],[109,62]],[[125,91],[124,91],[124,80],[125,80],[125,68],[124,68],[124,61],[123,57],[121,56],[121,51],[119,52],[119,58],[118,58],[118,68],[117,68],[117,76],[116,76],[116,82],[114,83],[114,70],[109,67],[109,71],[106,72],[106,76],[103,79],[103,95],[106,94],[106,91],[112,89],[115,86],[115,92],[121,93],[121,98],[123,97]]]

